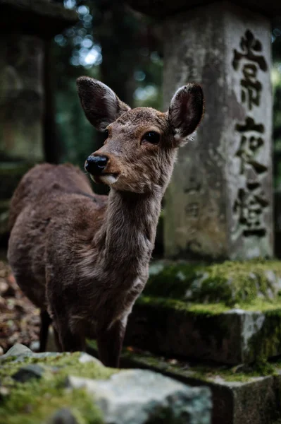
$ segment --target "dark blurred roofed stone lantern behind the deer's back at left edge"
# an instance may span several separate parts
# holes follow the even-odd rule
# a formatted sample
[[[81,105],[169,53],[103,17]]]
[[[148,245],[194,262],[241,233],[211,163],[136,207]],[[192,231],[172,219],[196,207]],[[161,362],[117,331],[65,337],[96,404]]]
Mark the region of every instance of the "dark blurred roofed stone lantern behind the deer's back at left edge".
[[[0,0],[0,235],[15,185],[44,160],[45,42],[76,22],[47,0]]]

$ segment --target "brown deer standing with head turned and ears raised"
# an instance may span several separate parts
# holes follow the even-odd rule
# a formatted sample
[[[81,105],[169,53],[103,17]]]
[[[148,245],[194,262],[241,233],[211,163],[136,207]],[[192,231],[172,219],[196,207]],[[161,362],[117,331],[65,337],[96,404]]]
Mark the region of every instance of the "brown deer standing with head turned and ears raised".
[[[99,358],[119,367],[132,307],[149,277],[161,201],[177,151],[204,114],[201,86],[188,83],[168,112],[131,109],[104,83],[82,76],[77,91],[89,122],[106,136],[82,172],[35,165],[11,199],[8,262],[41,316],[40,350],[49,324],[60,351],[83,351],[95,338]],[[107,184],[98,195],[94,182]]]

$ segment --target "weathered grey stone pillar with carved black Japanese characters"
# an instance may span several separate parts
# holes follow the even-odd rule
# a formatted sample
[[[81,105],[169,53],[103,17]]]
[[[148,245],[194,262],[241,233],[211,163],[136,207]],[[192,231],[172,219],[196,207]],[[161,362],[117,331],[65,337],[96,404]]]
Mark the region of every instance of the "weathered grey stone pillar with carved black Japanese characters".
[[[166,256],[271,257],[270,21],[217,2],[168,18],[163,34],[165,108],[188,81],[206,97],[168,187]]]

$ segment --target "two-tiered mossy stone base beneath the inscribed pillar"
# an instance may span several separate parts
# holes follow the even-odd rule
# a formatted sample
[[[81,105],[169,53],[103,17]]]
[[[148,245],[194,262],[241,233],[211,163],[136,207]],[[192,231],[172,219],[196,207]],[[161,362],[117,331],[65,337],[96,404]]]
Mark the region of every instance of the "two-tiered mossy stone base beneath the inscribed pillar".
[[[280,261],[155,261],[125,342],[233,365],[280,355],[280,289]]]

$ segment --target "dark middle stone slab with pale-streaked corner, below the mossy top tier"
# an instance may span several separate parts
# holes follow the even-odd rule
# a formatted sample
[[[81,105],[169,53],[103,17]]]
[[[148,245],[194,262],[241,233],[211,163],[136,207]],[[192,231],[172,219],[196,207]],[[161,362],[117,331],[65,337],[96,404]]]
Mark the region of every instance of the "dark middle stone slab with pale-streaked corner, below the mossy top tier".
[[[214,305],[216,306],[216,305]],[[264,312],[139,298],[125,343],[154,353],[237,365],[281,354],[281,309]]]

